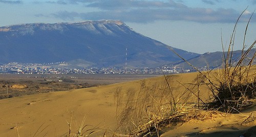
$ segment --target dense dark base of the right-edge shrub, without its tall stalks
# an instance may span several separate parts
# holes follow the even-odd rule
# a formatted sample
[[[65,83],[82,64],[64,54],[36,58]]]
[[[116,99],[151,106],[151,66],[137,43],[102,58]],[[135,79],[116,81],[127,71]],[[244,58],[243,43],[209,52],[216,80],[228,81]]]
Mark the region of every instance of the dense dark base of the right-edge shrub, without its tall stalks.
[[[256,97],[256,74],[245,74],[249,72],[249,68],[250,66],[239,67],[239,70],[228,68],[232,69],[230,74],[225,72],[225,69],[222,69],[224,72],[221,72],[221,74],[224,76],[220,77],[218,75],[220,79],[215,89],[217,93],[214,101],[209,103],[209,108],[217,108],[219,111],[234,113],[251,105],[252,99]]]

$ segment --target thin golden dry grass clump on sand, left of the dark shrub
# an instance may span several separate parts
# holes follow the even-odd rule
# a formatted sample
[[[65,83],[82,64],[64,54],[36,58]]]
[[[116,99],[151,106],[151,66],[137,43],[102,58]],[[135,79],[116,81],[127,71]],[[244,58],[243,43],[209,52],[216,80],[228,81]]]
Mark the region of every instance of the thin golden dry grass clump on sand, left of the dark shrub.
[[[174,95],[173,91],[177,89],[172,87],[172,80],[173,75],[165,76],[154,84],[140,80],[138,90],[117,87],[114,94],[117,132],[122,134],[116,136],[159,135],[163,125],[182,120],[188,112],[186,103],[191,94],[184,91]]]

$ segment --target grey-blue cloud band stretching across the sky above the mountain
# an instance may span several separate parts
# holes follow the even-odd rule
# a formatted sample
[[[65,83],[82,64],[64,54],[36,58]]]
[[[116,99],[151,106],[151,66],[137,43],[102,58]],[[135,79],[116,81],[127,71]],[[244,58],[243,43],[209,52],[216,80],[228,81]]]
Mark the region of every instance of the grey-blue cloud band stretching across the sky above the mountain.
[[[220,1],[203,3],[214,5]],[[147,23],[156,20],[184,20],[200,23],[234,22],[241,11],[234,9],[191,8],[174,1],[132,1],[132,0],[95,0],[95,1],[50,1],[54,4],[81,4],[84,8],[96,8],[92,12],[58,11],[51,16],[63,20],[120,19],[126,22]],[[253,2],[252,2],[253,3]],[[210,11],[210,12],[209,12]],[[247,18],[249,15],[245,15]],[[246,18],[245,17],[245,18]],[[241,19],[241,21],[247,21]],[[252,20],[252,22],[255,21]]]

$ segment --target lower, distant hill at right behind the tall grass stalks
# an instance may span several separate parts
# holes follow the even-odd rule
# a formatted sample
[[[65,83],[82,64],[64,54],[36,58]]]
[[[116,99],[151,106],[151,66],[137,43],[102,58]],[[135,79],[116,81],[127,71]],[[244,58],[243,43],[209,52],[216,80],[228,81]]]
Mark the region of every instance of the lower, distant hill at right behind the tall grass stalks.
[[[242,50],[236,50],[233,51],[232,53],[232,63],[235,65],[237,64],[238,60],[241,59],[241,52]],[[248,61],[253,57],[253,54],[256,52],[256,48],[252,48],[249,53],[247,58],[244,60],[244,65],[248,64]],[[224,52],[225,56],[227,55],[227,52]],[[216,68],[222,65],[222,60],[223,58],[223,52],[207,52],[204,53],[200,56],[197,56],[195,58],[187,60],[190,64],[192,64],[195,67],[198,68],[203,68],[203,67],[209,67],[209,68]],[[256,59],[254,59],[253,64],[256,64]],[[180,68],[192,68],[189,66],[186,62],[181,61],[175,64],[172,64],[176,67]]]

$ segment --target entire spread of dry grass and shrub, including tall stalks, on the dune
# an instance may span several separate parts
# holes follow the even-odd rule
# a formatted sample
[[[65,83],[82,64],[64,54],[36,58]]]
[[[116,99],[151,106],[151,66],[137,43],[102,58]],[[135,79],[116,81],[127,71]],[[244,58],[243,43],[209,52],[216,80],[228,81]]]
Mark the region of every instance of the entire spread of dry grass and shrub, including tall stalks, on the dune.
[[[244,11],[242,14],[243,13]],[[119,132],[125,135],[116,135],[151,136],[156,134],[159,136],[159,130],[162,126],[172,122],[184,121],[184,118],[187,118],[188,112],[191,113],[193,105],[197,106],[198,109],[200,109],[203,104],[206,109],[216,109],[218,111],[234,113],[252,104],[253,99],[256,97],[256,73],[252,70],[252,64],[256,57],[256,51],[252,49],[256,41],[245,50],[245,38],[248,24],[253,14],[246,25],[241,58],[232,58],[234,36],[242,14],[234,25],[227,52],[224,51],[224,46],[222,45],[223,65],[217,73],[212,72],[212,70],[206,72],[199,71],[171,49],[201,74],[197,77],[195,81],[196,84],[193,87],[193,89],[197,89],[197,93],[186,88],[186,91],[175,96],[173,94],[174,90],[170,86],[171,80],[169,78],[172,76],[165,75],[165,85],[148,87],[145,81],[141,81],[139,92],[136,94],[134,89],[129,89],[126,91],[126,95],[123,96],[120,94],[122,89],[117,88],[115,93],[117,124],[119,126]],[[249,54],[253,54],[250,59],[247,58]],[[200,98],[199,92],[201,84],[206,85],[211,91],[212,98],[209,99],[210,102],[208,103],[203,102]],[[182,83],[180,83],[180,85],[184,86]],[[191,100],[192,96],[196,96],[197,100],[190,104],[188,102]],[[190,116],[190,118],[191,117],[193,116]]]

